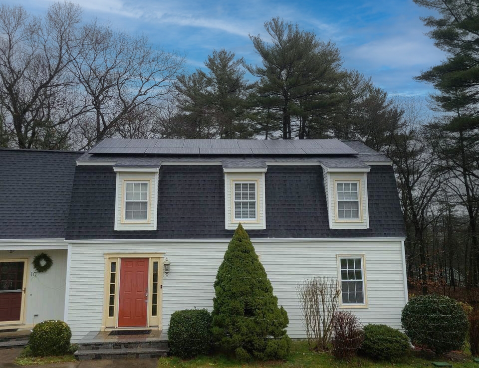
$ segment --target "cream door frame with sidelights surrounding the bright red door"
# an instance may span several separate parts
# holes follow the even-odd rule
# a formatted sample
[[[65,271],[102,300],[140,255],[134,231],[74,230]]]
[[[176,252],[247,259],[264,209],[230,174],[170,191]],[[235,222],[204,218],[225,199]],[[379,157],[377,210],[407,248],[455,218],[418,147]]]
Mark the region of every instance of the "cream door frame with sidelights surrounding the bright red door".
[[[104,295],[103,295],[103,314],[101,331],[105,330],[135,330],[145,328],[157,328],[162,330],[162,307],[163,307],[163,260],[165,253],[105,253],[105,274],[104,274]],[[148,304],[146,326],[143,327],[118,327],[118,307],[120,302],[120,268],[121,259],[125,258],[148,258]],[[111,264],[115,264],[115,280],[111,283]],[[152,315],[152,291],[153,291],[153,272],[154,262],[158,262],[157,279],[157,313]],[[113,316],[110,315],[110,286],[114,284],[114,305]]]

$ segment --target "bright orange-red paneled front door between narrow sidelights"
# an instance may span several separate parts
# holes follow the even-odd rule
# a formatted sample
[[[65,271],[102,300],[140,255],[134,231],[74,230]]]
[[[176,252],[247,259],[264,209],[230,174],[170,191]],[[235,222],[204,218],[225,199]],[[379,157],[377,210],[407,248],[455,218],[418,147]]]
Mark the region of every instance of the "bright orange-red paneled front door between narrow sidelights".
[[[148,258],[122,258],[118,327],[146,327]]]

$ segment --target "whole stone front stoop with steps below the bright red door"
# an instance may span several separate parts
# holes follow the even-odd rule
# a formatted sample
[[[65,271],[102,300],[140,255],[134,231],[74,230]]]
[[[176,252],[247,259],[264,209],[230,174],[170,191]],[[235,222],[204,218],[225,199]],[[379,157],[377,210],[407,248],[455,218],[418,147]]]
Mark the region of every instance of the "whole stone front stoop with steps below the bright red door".
[[[74,353],[79,361],[98,359],[148,359],[166,357],[168,341],[161,334],[109,336],[107,332],[88,334]]]

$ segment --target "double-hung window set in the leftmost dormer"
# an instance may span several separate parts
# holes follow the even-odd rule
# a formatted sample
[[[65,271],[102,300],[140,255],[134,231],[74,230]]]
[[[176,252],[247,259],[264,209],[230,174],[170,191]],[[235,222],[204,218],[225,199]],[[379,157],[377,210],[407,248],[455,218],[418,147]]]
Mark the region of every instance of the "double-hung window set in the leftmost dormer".
[[[125,181],[125,221],[148,220],[148,182]]]

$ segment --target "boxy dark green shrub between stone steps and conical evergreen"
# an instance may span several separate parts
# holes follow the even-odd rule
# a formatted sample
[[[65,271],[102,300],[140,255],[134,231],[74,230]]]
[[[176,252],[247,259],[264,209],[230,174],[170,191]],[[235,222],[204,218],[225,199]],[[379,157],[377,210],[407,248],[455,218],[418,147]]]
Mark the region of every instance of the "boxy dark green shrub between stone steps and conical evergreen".
[[[211,349],[211,315],[206,309],[187,309],[171,315],[168,329],[170,355],[192,358]]]

